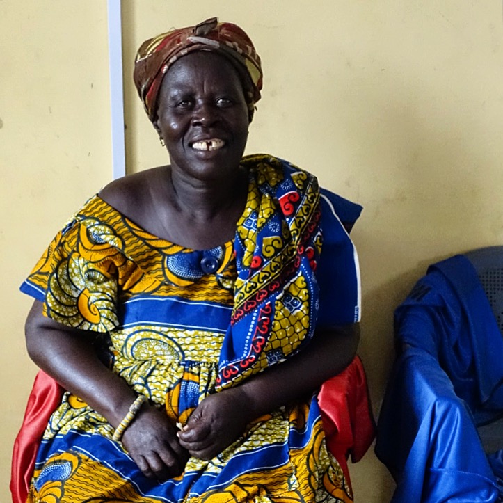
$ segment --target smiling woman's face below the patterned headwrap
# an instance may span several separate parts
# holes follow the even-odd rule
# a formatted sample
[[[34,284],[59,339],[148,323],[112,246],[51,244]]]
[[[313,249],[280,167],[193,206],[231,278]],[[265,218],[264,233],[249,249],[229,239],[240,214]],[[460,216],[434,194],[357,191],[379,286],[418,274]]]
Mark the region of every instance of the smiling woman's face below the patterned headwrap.
[[[248,138],[248,107],[237,70],[209,51],[176,61],[163,79],[154,126],[173,170],[202,181],[237,171]]]

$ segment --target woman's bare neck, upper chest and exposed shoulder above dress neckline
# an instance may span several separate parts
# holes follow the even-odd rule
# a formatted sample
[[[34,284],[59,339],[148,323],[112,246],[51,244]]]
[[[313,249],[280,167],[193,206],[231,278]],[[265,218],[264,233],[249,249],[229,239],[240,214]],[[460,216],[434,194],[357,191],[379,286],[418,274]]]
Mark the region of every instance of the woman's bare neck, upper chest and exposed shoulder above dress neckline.
[[[171,168],[152,168],[115,180],[100,196],[147,232],[193,250],[234,237],[248,194],[248,173],[219,184],[172,179]]]

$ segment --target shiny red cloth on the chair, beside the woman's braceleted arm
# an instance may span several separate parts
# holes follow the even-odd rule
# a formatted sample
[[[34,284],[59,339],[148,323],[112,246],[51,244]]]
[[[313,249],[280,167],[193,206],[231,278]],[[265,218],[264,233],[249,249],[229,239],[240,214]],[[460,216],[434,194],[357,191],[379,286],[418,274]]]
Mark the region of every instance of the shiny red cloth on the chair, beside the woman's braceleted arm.
[[[40,370],[35,376],[24,420],[14,442],[10,477],[13,503],[26,502],[40,440],[62,394],[63,388]]]

